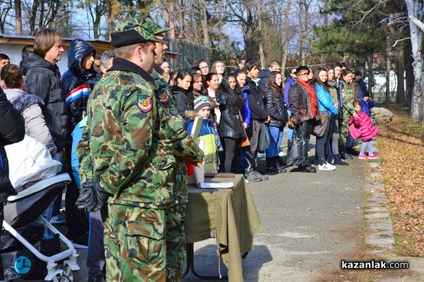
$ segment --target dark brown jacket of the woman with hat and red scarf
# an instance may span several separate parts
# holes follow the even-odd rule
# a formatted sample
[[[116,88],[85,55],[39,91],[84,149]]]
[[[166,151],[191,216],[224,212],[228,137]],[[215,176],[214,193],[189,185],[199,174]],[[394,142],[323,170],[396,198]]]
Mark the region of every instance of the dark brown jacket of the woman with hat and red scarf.
[[[302,121],[309,121],[312,119],[310,94],[299,82],[296,82],[295,85],[288,90],[288,102],[291,108],[290,119],[293,123],[301,123]],[[315,116],[317,121],[321,118],[318,104],[319,103],[317,103],[317,116]]]

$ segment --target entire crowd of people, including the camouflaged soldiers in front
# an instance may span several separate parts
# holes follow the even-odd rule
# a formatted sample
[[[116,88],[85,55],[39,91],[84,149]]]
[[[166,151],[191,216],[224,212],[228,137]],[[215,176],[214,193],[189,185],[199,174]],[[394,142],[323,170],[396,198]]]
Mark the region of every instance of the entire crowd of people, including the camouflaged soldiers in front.
[[[57,67],[64,48],[56,30],[37,32],[20,66],[0,54],[1,200],[13,194],[3,147],[25,132],[72,172],[66,219],[61,197],[42,216],[66,222],[73,244],[88,247],[89,281],[181,278],[189,165],[268,180],[287,171],[284,131],[288,157],[296,140],[306,144],[290,163],[298,166],[292,171],[334,170],[347,166],[352,155],[378,157],[372,153],[378,133],[370,119],[374,103],[360,71],[343,63],[314,73],[299,66],[284,81],[277,61],[260,71],[257,59],[243,58],[229,72],[223,61],[209,68],[203,59],[172,72],[164,60],[169,30],[151,18],[126,20],[112,32],[114,51],[101,56],[74,39],[64,75]],[[202,148],[189,135],[196,116],[203,118]],[[316,166],[307,152],[311,134],[317,136]],[[259,152],[266,171],[259,172]]]

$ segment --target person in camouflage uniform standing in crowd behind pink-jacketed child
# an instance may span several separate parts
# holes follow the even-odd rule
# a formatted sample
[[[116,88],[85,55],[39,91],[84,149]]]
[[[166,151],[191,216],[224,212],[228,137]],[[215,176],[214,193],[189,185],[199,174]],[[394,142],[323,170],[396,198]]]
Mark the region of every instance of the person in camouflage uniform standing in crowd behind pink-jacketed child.
[[[355,83],[352,81],[352,71],[349,69],[343,70],[340,79],[340,91],[341,91],[341,111],[339,115],[338,128],[340,130],[340,138],[338,139],[338,146],[343,150],[346,150],[346,139],[349,135],[348,121],[352,115],[355,114],[353,108],[353,101],[356,99]]]

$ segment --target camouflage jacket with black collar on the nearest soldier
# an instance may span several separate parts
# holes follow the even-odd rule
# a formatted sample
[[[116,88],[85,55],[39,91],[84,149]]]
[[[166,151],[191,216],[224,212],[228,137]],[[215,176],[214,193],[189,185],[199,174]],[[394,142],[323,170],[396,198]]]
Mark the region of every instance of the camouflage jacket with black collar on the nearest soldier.
[[[167,114],[146,71],[114,59],[88,100],[77,148],[81,181],[100,180],[109,203],[164,209],[177,202]]]

